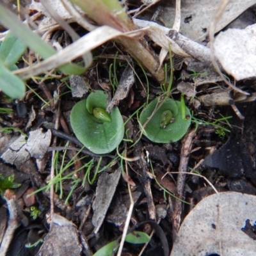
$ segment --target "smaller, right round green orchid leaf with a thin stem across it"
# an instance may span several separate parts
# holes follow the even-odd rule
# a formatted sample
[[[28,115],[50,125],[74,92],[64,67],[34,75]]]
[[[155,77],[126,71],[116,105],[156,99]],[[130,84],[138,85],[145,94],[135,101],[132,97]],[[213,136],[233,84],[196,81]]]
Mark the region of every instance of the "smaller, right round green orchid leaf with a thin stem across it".
[[[188,119],[182,118],[181,103],[173,99],[165,99],[163,104],[156,98],[141,111],[140,127],[147,138],[156,143],[170,143],[180,140],[191,124],[191,114],[184,106]],[[157,109],[157,106],[160,108]],[[156,113],[154,111],[157,109]],[[169,111],[172,111],[170,120]],[[154,115],[152,115],[154,113]],[[149,120],[149,121],[148,121]],[[170,120],[170,122],[169,122]],[[147,124],[146,124],[147,123]],[[144,127],[145,125],[145,127]]]

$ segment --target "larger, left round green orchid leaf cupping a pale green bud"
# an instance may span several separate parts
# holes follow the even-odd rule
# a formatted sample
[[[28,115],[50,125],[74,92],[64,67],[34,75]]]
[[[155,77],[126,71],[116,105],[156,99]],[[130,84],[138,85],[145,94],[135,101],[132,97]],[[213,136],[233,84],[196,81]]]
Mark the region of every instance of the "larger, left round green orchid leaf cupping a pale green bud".
[[[70,113],[71,126],[77,139],[95,154],[113,151],[124,137],[124,121],[118,108],[112,109],[110,122],[93,115],[94,108],[107,108],[107,99],[108,95],[104,92],[96,91],[87,99],[77,102]]]

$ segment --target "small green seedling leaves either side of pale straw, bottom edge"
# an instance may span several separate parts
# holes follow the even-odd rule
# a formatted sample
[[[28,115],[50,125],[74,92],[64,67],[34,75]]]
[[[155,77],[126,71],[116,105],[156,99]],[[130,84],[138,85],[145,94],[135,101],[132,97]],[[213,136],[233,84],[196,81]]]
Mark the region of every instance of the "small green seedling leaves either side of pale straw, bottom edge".
[[[134,231],[132,233],[127,234],[125,237],[125,242],[131,243],[131,244],[145,244],[150,241],[150,237],[148,234],[140,231]],[[113,253],[115,253],[118,250],[119,243],[118,241],[112,241],[102,248],[98,250],[96,253],[93,254],[93,256],[112,256]]]

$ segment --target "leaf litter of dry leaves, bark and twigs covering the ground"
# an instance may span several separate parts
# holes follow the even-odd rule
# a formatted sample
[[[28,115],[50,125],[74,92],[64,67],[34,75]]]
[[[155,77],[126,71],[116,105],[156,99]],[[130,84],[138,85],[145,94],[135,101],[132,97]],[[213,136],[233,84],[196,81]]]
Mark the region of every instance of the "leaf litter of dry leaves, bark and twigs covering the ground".
[[[64,65],[90,51],[95,56],[95,60],[81,76],[63,76],[61,80],[58,77],[54,78],[55,75],[52,74],[51,82],[45,79],[44,86],[40,86],[39,90],[36,87],[36,83],[39,83],[36,81],[38,77],[27,80],[32,90],[27,92],[23,100],[28,109],[33,109],[33,119],[29,120],[28,115],[19,117],[16,113],[0,114],[2,132],[0,142],[1,148],[4,148],[1,151],[3,161],[1,169],[4,169],[4,164],[9,164],[12,168],[6,168],[8,172],[0,170],[0,173],[3,173],[5,179],[9,179],[15,173],[14,182],[19,180],[21,184],[20,188],[11,188],[13,191],[7,189],[3,197],[5,201],[1,199],[0,210],[8,207],[10,220],[19,220],[13,225],[12,221],[4,218],[5,213],[1,213],[3,214],[1,227],[7,227],[0,236],[0,250],[3,255],[7,250],[12,252],[11,255],[19,255],[17,254],[19,250],[27,253],[23,255],[49,255],[49,253],[63,255],[70,250],[70,246],[74,246],[72,247],[74,250],[70,250],[69,255],[93,255],[102,246],[117,239],[122,232],[127,234],[127,230],[129,232],[129,227],[132,225],[135,227],[136,223],[149,219],[157,221],[163,233],[159,233],[156,226],[147,227],[147,224],[144,224],[140,230],[148,235],[156,230],[162,243],[159,243],[156,236],[152,236],[148,246],[142,249],[143,246],[135,247],[123,243],[124,236],[117,255],[120,255],[122,250],[133,255],[140,255],[141,250],[151,255],[156,252],[154,250],[161,250],[162,255],[166,256],[168,253],[162,250],[165,240],[161,236],[167,237],[170,255],[208,255],[209,253],[226,255],[226,252],[229,253],[227,255],[241,255],[241,253],[253,255],[255,252],[253,227],[256,221],[251,214],[255,208],[256,195],[254,164],[256,150],[253,143],[256,135],[254,127],[256,120],[253,116],[256,108],[253,101],[256,72],[253,67],[256,61],[252,45],[255,42],[255,29],[252,24],[253,19],[249,18],[239,23],[243,23],[241,27],[234,28],[228,24],[234,19],[237,22],[244,11],[250,12],[255,17],[255,1],[248,0],[243,4],[236,0],[229,1],[221,10],[223,14],[217,19],[218,23],[214,24],[216,37],[212,43],[216,61],[222,72],[225,72],[225,76],[236,86],[229,88],[223,82],[225,79],[215,72],[211,62],[211,49],[207,45],[211,17],[214,17],[221,2],[197,1],[193,4],[179,2],[177,1],[177,6],[172,6],[172,4],[162,5],[158,1],[143,1],[143,3],[136,2],[133,7],[128,2],[122,10],[128,10],[131,15],[135,14],[131,23],[126,28],[122,27],[124,24],[113,24],[111,28],[108,20],[106,23],[97,24],[97,15],[94,24],[90,19],[84,18],[81,22],[83,15],[81,8],[72,9],[74,6],[70,6],[66,0],[51,1],[52,8],[58,9],[63,19],[72,18],[77,24],[83,24],[82,26],[72,24],[81,38],[71,44],[69,42],[68,46],[66,45],[47,60],[37,63],[35,61],[31,67],[19,67],[19,70],[14,71],[13,74],[29,79],[31,76],[42,76],[42,73],[46,72],[44,78],[47,78],[51,76],[48,72],[52,68]],[[56,8],[55,4],[61,5],[61,8],[60,6]],[[40,12],[42,9],[38,9],[39,6],[40,3],[33,1],[31,12],[32,10]],[[61,9],[63,12],[60,13]],[[49,20],[47,12],[43,13],[44,19]],[[115,13],[112,17],[118,17],[119,14]],[[170,20],[170,17],[173,20]],[[37,22],[40,26],[40,21]],[[173,24],[176,30],[172,29]],[[95,29],[98,25],[105,26]],[[230,29],[225,29],[227,25]],[[51,41],[55,29],[60,29],[60,26],[52,20],[48,28],[40,28],[40,31],[46,31],[45,36],[49,33],[48,38]],[[86,35],[84,29],[88,30]],[[219,31],[221,32],[218,33]],[[0,36],[4,38],[5,35],[3,31]],[[65,38],[62,42],[61,37]],[[68,42],[67,35],[63,33],[61,37],[59,42],[63,46]],[[112,44],[109,40],[115,40],[115,43]],[[136,40],[140,40],[140,44],[137,44]],[[127,42],[132,45],[131,49]],[[146,42],[147,47],[145,47]],[[141,48],[144,55],[138,52],[136,58],[134,49],[138,51],[138,47],[145,47],[147,51],[142,51]],[[138,108],[142,111],[152,100],[164,93],[166,81],[164,82],[163,75],[166,72],[165,79],[170,79],[170,68],[172,68],[167,55],[170,49],[172,49],[175,77],[171,97],[179,100],[180,93],[186,95],[186,106],[193,111],[189,116],[192,125],[182,140],[156,144],[140,134],[140,124],[137,119],[140,112],[136,111]],[[113,59],[106,57],[103,60],[97,56],[104,54],[115,56],[116,51],[118,51],[117,65],[110,71],[109,66]],[[128,55],[122,60],[121,57],[127,52],[137,62],[131,61]],[[147,65],[143,63],[143,58]],[[164,68],[163,64],[166,65]],[[116,79],[117,82],[115,93],[111,79]],[[71,86],[69,91],[67,81]],[[79,141],[77,142],[69,134],[72,129],[68,124],[68,118],[70,110],[77,101],[76,98],[88,97],[88,92],[94,90],[106,90],[112,99],[108,111],[111,111],[111,108],[119,108],[125,123],[129,124],[124,124],[125,129],[128,130],[125,131],[124,141],[117,148],[117,153],[113,151],[108,156],[93,156],[79,152],[81,148],[76,148],[76,145],[81,143],[79,144]],[[43,106],[41,99],[44,102],[52,99],[54,91],[58,92],[54,103],[47,102]],[[32,93],[36,93],[38,97]],[[237,102],[242,103],[237,104]],[[3,94],[1,105],[5,108],[15,108],[12,102],[4,99]],[[230,115],[232,120],[225,118]],[[47,131],[42,130],[40,125],[48,127]],[[13,141],[10,143],[8,142],[10,135],[3,133],[6,127],[15,127],[12,130]],[[25,135],[17,136],[19,131],[27,132],[27,130],[28,140]],[[63,136],[64,132],[61,134],[58,130],[64,131],[65,136]],[[51,133],[54,136],[59,135],[58,140],[52,140]],[[4,140],[5,137],[8,139]],[[74,144],[67,148],[68,140]],[[133,145],[135,142],[136,145]],[[60,148],[57,146],[61,146],[65,151],[58,153],[57,156],[60,158],[54,158],[48,152],[50,146],[56,150]],[[35,161],[37,163],[40,161],[40,167],[36,167]],[[52,189],[50,193],[47,190],[50,187],[47,186],[49,185],[47,180],[52,168],[60,172],[54,174],[55,191]],[[178,175],[171,174],[177,170],[180,172]],[[207,177],[219,193],[211,195],[214,190],[200,175],[186,176],[186,172],[200,173]],[[65,179],[61,180],[63,177]],[[22,195],[28,195],[31,191],[35,191],[36,187],[42,189],[44,186],[46,190],[36,193],[31,200],[33,205],[25,198],[23,204],[17,203],[17,198],[21,200]],[[170,191],[175,197],[170,195]],[[62,195],[69,198],[66,204],[63,204]],[[113,205],[115,202],[116,205]],[[165,209],[162,219],[156,214],[161,205],[164,205]],[[120,209],[116,209],[116,206]],[[36,220],[31,218],[32,215],[29,216],[33,214],[31,211],[35,211],[31,207],[38,207],[38,211],[42,213]],[[237,209],[241,210],[237,211]],[[50,224],[42,225],[47,220],[47,216],[52,218]],[[230,221],[231,219],[233,221]],[[22,240],[15,234],[15,230],[20,225],[26,228],[28,223],[37,226],[31,228],[29,232],[24,232],[27,238]],[[30,233],[36,234],[37,241],[29,240]],[[188,239],[193,239],[193,242],[188,243]],[[30,244],[36,242],[38,244],[34,248],[25,249],[26,241]],[[41,242],[43,242],[42,246]],[[69,246],[67,250],[63,244]],[[235,252],[238,254],[234,254]]]

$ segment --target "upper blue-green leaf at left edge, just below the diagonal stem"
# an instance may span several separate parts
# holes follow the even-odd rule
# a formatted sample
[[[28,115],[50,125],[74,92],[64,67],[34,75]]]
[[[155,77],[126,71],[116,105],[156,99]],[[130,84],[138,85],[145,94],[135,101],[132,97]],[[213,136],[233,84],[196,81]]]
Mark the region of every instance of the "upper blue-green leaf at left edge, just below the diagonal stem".
[[[9,31],[0,47],[0,60],[5,67],[11,68],[20,59],[26,48],[26,45]]]

